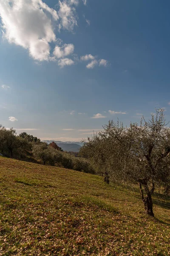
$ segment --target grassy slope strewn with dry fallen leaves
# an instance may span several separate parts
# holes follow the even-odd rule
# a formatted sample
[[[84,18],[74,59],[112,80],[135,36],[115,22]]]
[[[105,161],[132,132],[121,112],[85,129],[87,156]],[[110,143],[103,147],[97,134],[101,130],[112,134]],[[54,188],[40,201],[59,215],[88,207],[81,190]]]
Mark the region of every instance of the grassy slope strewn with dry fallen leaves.
[[[0,157],[0,255],[170,255],[170,201],[102,177]]]

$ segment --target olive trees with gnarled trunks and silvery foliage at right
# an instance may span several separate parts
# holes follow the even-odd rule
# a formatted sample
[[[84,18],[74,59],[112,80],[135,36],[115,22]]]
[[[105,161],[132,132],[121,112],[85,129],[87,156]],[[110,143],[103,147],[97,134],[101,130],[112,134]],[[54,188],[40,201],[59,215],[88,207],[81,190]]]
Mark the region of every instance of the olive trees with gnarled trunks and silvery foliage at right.
[[[80,149],[80,155],[105,172],[105,181],[138,184],[145,212],[153,214],[152,194],[156,187],[170,192],[170,128],[164,110],[156,110],[148,122],[124,127],[109,121],[104,131],[94,134]]]

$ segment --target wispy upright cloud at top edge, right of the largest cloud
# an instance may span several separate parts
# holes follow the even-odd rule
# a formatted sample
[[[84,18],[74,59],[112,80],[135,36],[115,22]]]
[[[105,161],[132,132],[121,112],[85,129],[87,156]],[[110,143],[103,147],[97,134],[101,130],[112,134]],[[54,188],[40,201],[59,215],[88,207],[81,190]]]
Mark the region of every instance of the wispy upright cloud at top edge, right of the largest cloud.
[[[77,3],[77,1],[59,1],[58,15],[61,19],[61,23],[59,23],[59,30],[63,28],[69,31],[73,31],[74,26],[77,26],[76,10],[71,6],[72,3]]]

